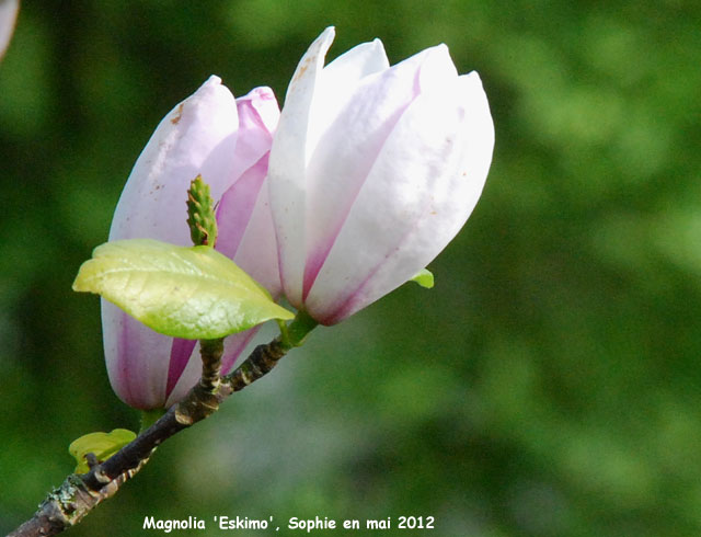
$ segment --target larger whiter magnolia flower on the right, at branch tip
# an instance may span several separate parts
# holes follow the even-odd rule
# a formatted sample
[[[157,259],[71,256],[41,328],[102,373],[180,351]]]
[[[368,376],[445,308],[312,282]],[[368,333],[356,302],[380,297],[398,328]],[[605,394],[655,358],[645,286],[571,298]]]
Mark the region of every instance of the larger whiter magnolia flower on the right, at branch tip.
[[[474,208],[494,126],[445,45],[390,67],[376,39],[323,67],[326,28],[287,90],[268,188],[292,306],[334,324],[425,267]]]

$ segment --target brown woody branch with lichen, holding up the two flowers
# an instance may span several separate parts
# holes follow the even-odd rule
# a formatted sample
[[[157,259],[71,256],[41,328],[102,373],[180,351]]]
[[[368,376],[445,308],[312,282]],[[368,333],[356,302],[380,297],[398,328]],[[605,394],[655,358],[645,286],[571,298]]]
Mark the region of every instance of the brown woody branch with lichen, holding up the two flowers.
[[[149,460],[153,450],[168,438],[191,427],[219,409],[219,404],[234,391],[240,391],[263,377],[290,350],[279,339],[258,345],[232,374],[220,377],[221,345],[203,342],[203,376],[177,404],[130,444],[88,473],[71,473],[51,491],[34,516],[8,537],[57,535],[78,524],[104,500],[113,496]],[[205,354],[209,353],[209,359]]]

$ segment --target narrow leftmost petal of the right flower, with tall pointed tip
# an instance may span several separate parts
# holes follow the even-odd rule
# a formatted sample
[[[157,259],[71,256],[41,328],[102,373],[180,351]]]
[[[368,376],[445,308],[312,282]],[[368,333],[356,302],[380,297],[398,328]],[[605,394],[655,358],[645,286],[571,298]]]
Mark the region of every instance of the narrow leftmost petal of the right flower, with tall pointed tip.
[[[268,188],[280,277],[287,299],[296,307],[301,306],[304,271],[304,171],[313,149],[306,141],[310,108],[333,37],[333,27],[324,30],[297,66],[271,150]]]

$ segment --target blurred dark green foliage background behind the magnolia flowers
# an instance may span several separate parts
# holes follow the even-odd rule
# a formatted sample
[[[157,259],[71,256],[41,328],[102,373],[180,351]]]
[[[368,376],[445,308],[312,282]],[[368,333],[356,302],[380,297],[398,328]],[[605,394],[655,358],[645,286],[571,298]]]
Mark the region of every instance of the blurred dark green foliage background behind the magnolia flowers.
[[[0,65],[0,533],[71,471],[72,439],[137,426],[99,301],[70,285],[153,128],[210,73],[283,101],[329,24],[330,57],[445,42],[479,70],[480,204],[433,290],[319,329],[71,535],[142,535],[147,515],[202,536],[223,534],[215,515],[701,535],[701,8],[683,0],[25,1]]]

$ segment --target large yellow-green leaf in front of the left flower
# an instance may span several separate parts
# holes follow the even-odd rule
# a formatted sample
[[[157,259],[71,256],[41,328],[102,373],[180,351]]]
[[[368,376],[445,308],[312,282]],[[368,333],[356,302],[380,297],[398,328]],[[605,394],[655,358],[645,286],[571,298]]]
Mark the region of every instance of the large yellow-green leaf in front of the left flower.
[[[73,290],[102,295],[152,330],[186,340],[214,340],[295,317],[212,248],[150,239],[95,248]]]

